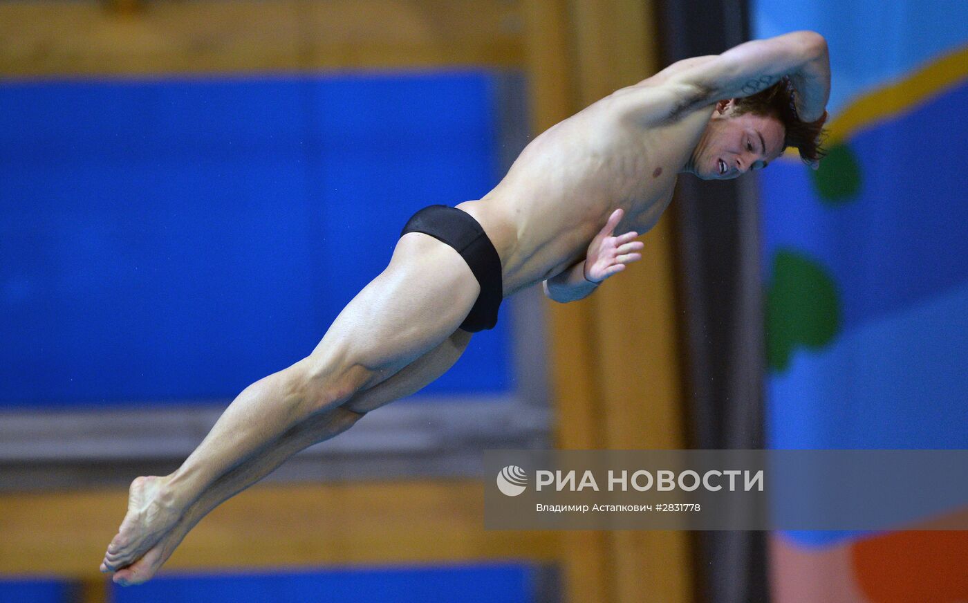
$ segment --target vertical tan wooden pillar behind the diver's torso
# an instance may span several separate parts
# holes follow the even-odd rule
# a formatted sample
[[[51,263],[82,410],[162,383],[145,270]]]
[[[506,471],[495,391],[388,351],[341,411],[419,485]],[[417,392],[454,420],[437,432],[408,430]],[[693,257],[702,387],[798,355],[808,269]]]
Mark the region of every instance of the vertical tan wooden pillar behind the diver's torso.
[[[536,132],[658,68],[646,0],[529,0],[526,55]],[[643,260],[590,298],[552,304],[557,440],[566,449],[685,445],[672,240],[664,218]],[[686,532],[563,535],[572,603],[693,600]]]

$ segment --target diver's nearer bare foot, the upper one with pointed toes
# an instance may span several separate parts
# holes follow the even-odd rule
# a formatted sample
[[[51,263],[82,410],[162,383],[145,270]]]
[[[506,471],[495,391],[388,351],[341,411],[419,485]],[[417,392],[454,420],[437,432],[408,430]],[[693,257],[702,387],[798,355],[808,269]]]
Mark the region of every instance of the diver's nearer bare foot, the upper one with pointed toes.
[[[167,477],[138,477],[131,484],[128,514],[107,545],[101,571],[117,571],[146,555],[178,522],[183,508],[167,488]]]

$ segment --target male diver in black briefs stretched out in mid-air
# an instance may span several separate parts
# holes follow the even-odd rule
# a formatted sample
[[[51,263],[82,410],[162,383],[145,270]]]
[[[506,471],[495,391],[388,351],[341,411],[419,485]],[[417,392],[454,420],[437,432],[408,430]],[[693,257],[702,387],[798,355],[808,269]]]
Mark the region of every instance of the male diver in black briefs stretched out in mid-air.
[[[810,31],[686,59],[534,138],[481,199],[418,211],[311,354],[247,387],[176,471],[136,478],[102,571],[151,578],[222,501],[442,375],[503,297],[588,296],[641,258],[679,174],[736,178],[787,147],[815,168],[830,75]]]

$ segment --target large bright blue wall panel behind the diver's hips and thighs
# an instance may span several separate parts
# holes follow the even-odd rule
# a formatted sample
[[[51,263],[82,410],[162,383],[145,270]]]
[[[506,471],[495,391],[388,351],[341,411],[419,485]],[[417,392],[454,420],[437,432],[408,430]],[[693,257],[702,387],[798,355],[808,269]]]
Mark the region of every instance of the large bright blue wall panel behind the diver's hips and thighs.
[[[497,181],[495,75],[0,85],[0,405],[234,396],[409,215]],[[425,390],[511,386],[507,317]]]

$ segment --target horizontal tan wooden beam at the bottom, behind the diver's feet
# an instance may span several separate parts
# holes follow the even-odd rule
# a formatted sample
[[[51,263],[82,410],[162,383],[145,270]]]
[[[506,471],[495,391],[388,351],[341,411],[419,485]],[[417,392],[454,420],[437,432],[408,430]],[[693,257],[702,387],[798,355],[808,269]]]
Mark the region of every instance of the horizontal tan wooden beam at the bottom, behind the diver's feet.
[[[61,576],[105,600],[98,572],[124,489],[0,496],[0,576]],[[517,558],[552,562],[559,534],[485,530],[475,480],[261,485],[215,509],[166,569],[396,564]]]

